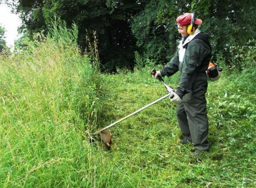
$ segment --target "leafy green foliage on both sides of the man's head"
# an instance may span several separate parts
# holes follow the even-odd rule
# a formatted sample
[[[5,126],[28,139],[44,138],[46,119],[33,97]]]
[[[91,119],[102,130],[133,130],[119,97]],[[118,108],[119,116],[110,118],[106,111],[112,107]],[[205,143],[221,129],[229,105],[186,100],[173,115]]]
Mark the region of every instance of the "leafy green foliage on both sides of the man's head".
[[[148,57],[168,61],[176,51],[176,17],[195,11],[203,20],[201,30],[209,33],[213,60],[223,55],[230,60],[230,46],[244,45],[254,39],[256,1],[231,0],[151,0],[133,18],[133,34],[137,45],[144,47]]]

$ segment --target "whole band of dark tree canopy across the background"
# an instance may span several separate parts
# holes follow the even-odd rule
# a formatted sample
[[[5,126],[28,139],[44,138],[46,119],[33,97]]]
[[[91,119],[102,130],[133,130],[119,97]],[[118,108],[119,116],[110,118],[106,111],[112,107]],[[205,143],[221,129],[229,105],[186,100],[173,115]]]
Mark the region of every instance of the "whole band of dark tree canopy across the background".
[[[109,71],[134,65],[134,51],[158,63],[166,63],[180,35],[176,17],[195,11],[203,20],[201,30],[209,33],[213,60],[229,59],[230,47],[244,45],[256,36],[256,0],[14,0],[8,1],[20,14],[21,31],[47,33],[56,15],[75,23],[78,44],[86,49],[86,35],[96,31],[101,64]],[[228,62],[228,61],[227,61]]]

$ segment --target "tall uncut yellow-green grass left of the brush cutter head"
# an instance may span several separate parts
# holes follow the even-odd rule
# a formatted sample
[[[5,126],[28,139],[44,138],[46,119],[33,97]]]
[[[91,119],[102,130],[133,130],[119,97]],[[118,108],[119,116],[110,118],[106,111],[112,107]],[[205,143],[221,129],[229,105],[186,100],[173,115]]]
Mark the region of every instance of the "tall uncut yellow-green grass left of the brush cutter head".
[[[35,38],[0,56],[0,187],[91,187],[104,162],[85,133],[96,123],[98,70],[80,55],[75,25],[57,21]]]

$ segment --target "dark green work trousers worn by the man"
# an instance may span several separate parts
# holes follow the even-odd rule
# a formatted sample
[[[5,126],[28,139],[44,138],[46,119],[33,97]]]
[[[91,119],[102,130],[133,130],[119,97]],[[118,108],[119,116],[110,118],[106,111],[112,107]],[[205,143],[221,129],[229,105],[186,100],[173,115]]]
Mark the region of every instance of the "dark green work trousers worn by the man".
[[[180,105],[177,105],[177,119],[183,136],[191,139],[193,146],[199,150],[208,150],[207,140],[209,125],[206,112],[205,93],[207,90],[206,75],[195,78],[192,91],[187,93]]]

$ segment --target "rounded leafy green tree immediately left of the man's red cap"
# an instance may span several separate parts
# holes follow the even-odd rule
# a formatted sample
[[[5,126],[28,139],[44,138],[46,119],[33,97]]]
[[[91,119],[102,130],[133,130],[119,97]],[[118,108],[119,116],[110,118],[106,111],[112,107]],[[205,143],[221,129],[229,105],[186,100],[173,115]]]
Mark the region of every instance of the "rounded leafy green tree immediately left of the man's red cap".
[[[176,29],[176,17],[188,12],[191,1],[149,0],[139,14],[133,17],[132,32],[137,45],[148,58],[158,63],[169,61],[176,51],[180,38]]]

